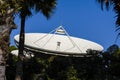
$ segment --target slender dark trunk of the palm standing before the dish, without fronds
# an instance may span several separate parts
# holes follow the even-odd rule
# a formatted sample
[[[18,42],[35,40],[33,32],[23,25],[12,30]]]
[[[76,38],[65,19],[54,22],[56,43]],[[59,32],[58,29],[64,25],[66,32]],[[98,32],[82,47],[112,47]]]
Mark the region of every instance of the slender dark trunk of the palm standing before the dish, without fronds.
[[[23,50],[24,50],[24,40],[25,40],[25,17],[21,19],[21,29],[20,29],[20,36],[19,36],[19,52],[18,52],[18,63],[16,69],[16,78],[15,80],[23,80]]]

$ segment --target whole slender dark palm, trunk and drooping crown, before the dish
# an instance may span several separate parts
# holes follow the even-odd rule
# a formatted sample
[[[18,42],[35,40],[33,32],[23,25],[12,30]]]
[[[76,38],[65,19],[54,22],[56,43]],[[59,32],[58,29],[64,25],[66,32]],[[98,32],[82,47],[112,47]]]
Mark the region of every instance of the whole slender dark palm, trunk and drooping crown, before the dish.
[[[21,0],[20,18],[21,29],[19,37],[19,52],[18,52],[18,64],[16,69],[16,80],[23,80],[23,67],[22,62],[24,60],[24,40],[25,40],[25,21],[26,18],[32,15],[32,10],[36,13],[42,13],[45,17],[49,18],[51,12],[56,7],[56,0]]]

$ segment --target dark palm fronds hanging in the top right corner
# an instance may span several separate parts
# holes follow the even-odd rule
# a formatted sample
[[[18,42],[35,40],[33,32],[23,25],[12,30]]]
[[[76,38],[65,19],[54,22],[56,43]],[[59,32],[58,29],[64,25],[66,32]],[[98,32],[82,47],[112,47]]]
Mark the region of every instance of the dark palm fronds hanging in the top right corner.
[[[101,4],[101,8],[106,6],[106,9],[109,10],[110,6],[113,6],[113,10],[116,13],[116,31],[120,30],[120,0],[97,0]],[[118,36],[120,32],[118,33]]]

